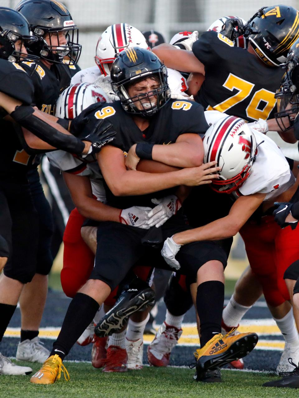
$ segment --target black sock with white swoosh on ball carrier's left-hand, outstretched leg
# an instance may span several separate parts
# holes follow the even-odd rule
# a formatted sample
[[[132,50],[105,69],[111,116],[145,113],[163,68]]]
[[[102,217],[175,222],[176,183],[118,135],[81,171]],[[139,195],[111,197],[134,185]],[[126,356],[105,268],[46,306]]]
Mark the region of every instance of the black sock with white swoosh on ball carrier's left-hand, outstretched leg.
[[[58,354],[63,361],[94,318],[98,308],[98,303],[92,297],[84,293],[77,293],[67,309],[61,331],[53,343],[50,356]]]

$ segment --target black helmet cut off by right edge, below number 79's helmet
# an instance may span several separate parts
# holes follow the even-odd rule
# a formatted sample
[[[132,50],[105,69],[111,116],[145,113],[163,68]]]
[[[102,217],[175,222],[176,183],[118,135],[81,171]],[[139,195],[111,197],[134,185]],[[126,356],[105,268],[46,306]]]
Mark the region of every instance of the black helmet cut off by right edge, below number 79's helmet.
[[[274,116],[281,130],[287,131],[299,111],[299,39],[291,46],[284,67],[286,72],[275,94],[277,113]]]

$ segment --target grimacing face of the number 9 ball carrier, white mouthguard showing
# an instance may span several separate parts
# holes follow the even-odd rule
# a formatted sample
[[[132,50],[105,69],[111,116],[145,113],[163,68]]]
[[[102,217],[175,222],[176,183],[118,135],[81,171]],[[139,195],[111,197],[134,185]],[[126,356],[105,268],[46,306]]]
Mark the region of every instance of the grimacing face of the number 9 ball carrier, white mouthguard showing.
[[[154,107],[157,105],[157,95],[146,95],[146,93],[152,90],[157,90],[159,87],[160,83],[156,78],[147,78],[140,80],[135,84],[131,84],[128,88],[128,95],[130,98],[138,96],[133,102],[135,102],[137,109],[141,111],[144,108],[149,108],[151,106]]]

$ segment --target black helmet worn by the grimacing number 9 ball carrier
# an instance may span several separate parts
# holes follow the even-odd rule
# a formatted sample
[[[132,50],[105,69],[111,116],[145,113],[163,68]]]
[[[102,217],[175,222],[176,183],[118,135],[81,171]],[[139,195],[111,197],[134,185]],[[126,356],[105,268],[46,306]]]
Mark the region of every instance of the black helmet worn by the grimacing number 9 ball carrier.
[[[149,76],[157,76],[159,88],[134,97],[128,95],[128,86],[144,80]],[[170,99],[170,90],[167,84],[167,68],[159,58],[149,50],[140,47],[131,47],[118,54],[111,67],[113,91],[119,96],[125,111],[144,117],[154,115]],[[152,105],[151,97],[157,96],[157,103]],[[144,106],[141,100],[148,99]],[[136,107],[140,101],[142,110]]]

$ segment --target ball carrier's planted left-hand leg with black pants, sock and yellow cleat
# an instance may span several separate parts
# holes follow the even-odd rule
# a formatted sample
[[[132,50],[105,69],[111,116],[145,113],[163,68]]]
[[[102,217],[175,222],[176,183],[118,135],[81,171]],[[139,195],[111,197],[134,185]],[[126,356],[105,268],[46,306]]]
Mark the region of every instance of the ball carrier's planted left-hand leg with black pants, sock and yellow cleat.
[[[90,324],[100,304],[142,256],[140,233],[140,228],[116,222],[100,223],[94,269],[71,301],[51,355],[31,377],[31,382],[53,384],[59,378],[63,359]]]

